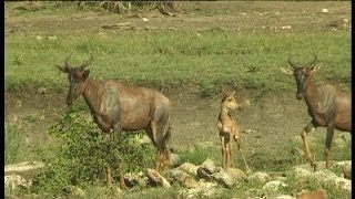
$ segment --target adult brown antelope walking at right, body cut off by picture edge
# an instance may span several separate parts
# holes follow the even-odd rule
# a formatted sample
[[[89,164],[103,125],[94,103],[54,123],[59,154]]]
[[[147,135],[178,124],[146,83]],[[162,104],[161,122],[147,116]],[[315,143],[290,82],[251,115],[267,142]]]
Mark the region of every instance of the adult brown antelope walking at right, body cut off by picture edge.
[[[297,100],[304,100],[308,106],[308,114],[312,121],[304,127],[301,137],[305,148],[307,160],[314,170],[316,164],[311,154],[307,143],[307,134],[318,126],[327,127],[326,143],[325,143],[325,158],[326,168],[331,166],[331,146],[334,135],[334,128],[342,132],[352,132],[352,93],[341,91],[331,84],[314,84],[311,81],[311,75],[316,72],[320,66],[316,66],[317,57],[315,54],[314,60],[306,66],[295,65],[288,57],[288,64],[293,71],[281,69],[286,74],[293,74],[297,85]]]

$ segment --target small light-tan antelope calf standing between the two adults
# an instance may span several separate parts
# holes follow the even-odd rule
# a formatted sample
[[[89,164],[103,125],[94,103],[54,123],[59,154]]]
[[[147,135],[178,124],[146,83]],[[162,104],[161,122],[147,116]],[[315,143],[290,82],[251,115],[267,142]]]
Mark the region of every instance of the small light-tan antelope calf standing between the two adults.
[[[221,112],[219,115],[217,128],[220,132],[220,139],[222,144],[222,167],[226,169],[227,167],[234,167],[234,158],[232,151],[232,140],[234,139],[237,144],[237,149],[241,153],[246,171],[250,171],[250,168],[246,164],[242,145],[241,145],[241,132],[236,125],[235,119],[230,114],[231,111],[239,109],[240,105],[236,103],[234,97],[234,92],[227,92],[222,98]]]

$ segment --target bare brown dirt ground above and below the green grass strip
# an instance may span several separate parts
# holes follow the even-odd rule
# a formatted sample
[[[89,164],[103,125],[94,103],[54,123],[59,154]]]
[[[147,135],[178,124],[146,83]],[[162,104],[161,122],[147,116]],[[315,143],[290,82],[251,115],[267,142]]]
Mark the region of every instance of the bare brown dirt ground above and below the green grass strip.
[[[129,23],[118,29],[172,29],[203,30],[222,28],[226,30],[261,30],[273,27],[291,25],[293,31],[331,29],[343,18],[351,19],[351,2],[194,2],[191,10],[196,12],[176,12],[166,17],[158,11],[141,14],[109,14],[102,12],[78,12],[64,15],[21,17],[6,12],[6,33],[41,31],[55,34],[58,31],[80,33],[82,31],[106,31],[104,24]],[[336,7],[335,7],[336,4]],[[207,9],[209,8],[209,9]],[[215,9],[213,9],[215,8]],[[219,9],[216,9],[219,8]],[[322,9],[328,8],[329,13]],[[202,12],[205,10],[204,12]],[[200,12],[197,12],[200,11]],[[264,17],[267,15],[267,17]],[[142,21],[149,19],[149,23]],[[297,17],[296,19],[293,17]],[[307,23],[308,19],[314,19]],[[245,22],[248,21],[248,22]],[[115,29],[114,29],[115,30]],[[113,30],[113,31],[114,31]],[[170,91],[166,94],[173,102],[172,139],[170,146],[186,147],[206,142],[206,145],[220,144],[216,123],[221,96],[201,98],[189,90]],[[20,123],[28,135],[29,145],[48,140],[45,130],[65,109],[65,93],[41,94],[6,93],[6,119]],[[257,103],[253,103],[257,100]],[[290,139],[300,136],[308,123],[304,101],[297,101],[295,93],[268,93],[257,98],[253,91],[237,91],[237,101],[243,111],[234,114],[244,134],[246,156],[257,153],[280,154],[290,144]],[[247,101],[251,105],[247,106]],[[88,113],[89,115],[89,113]],[[325,129],[312,133],[325,137]],[[36,136],[34,136],[36,135]]]

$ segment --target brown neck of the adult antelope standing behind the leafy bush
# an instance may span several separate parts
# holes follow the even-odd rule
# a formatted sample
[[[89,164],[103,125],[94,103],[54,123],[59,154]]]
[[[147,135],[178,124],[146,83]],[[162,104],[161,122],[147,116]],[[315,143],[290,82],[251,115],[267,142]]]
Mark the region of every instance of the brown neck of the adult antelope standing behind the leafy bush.
[[[104,86],[97,80],[89,78],[85,81],[84,92],[82,93],[91,113],[100,115],[100,104],[104,93]]]

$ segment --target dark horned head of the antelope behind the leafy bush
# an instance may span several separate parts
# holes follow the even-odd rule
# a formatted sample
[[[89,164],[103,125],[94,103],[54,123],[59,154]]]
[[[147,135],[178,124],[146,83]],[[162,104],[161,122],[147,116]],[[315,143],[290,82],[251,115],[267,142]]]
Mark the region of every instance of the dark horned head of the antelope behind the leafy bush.
[[[68,81],[70,84],[67,96],[68,106],[71,106],[73,102],[84,92],[85,81],[90,74],[90,70],[85,70],[85,67],[89,66],[93,60],[93,56],[91,55],[88,61],[77,67],[73,67],[68,63],[70,56],[71,54],[65,59],[64,65],[55,65],[61,72],[68,74]]]

